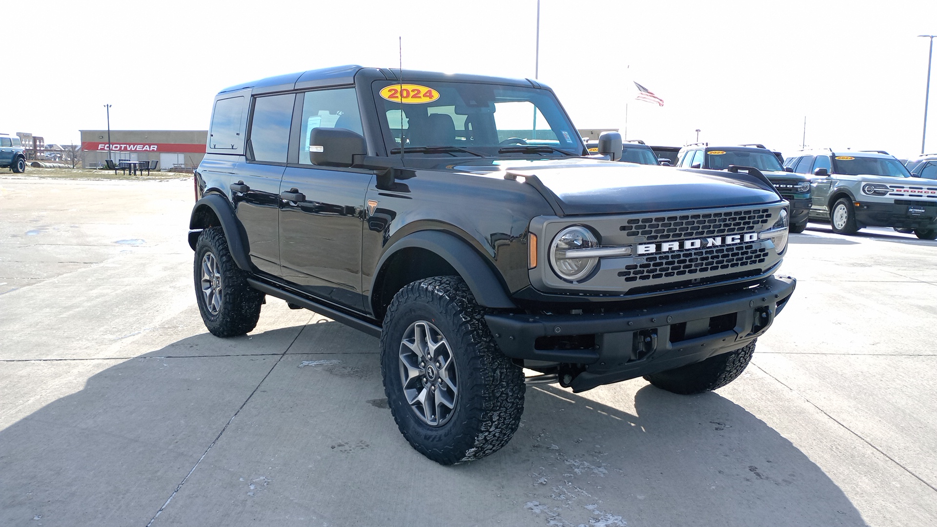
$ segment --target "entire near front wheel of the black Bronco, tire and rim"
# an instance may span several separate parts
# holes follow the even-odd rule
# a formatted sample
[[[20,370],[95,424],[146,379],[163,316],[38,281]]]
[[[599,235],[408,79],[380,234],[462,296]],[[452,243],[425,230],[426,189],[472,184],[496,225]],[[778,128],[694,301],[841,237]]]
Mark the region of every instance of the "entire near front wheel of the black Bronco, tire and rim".
[[[524,412],[524,372],[498,350],[458,277],[418,280],[394,295],[380,373],[400,433],[443,465],[498,451]]]

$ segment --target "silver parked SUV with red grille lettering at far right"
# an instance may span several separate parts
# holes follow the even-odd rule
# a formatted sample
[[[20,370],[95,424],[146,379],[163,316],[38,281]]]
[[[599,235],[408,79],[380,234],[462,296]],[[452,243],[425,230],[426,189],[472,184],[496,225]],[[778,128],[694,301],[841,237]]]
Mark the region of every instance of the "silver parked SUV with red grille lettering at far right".
[[[785,165],[813,176],[811,218],[828,219],[833,232],[894,227],[937,239],[937,182],[914,177],[885,152],[800,152]]]

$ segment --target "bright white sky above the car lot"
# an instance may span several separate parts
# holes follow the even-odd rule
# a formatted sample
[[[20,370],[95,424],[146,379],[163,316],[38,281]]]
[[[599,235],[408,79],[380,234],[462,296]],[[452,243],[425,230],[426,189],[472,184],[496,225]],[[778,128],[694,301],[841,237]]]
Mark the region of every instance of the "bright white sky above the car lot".
[[[41,7],[40,7],[41,5]],[[868,7],[863,7],[868,5]],[[14,2],[0,131],[207,129],[220,89],[343,64],[534,77],[536,0]],[[13,23],[12,21],[19,21]],[[542,0],[540,80],[650,144],[920,152],[937,2]],[[937,69],[937,68],[935,68]],[[937,72],[932,73],[937,77]],[[664,106],[634,100],[632,80]],[[931,87],[937,92],[937,83]],[[937,96],[928,152],[937,152]]]

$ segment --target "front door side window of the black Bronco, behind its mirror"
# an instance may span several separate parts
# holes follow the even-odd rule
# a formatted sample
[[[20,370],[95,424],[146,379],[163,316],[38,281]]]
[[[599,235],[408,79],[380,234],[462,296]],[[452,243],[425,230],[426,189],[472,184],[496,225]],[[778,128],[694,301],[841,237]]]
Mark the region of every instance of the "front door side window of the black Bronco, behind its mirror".
[[[305,92],[303,97],[303,124],[300,128],[299,162],[309,161],[309,133],[313,128],[345,128],[364,135],[358,97],[354,88]]]

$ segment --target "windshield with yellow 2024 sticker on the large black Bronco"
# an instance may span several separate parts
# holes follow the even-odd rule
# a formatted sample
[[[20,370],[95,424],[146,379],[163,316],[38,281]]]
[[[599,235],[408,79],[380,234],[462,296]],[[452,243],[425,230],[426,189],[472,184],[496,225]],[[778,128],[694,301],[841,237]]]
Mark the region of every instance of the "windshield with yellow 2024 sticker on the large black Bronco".
[[[580,156],[583,144],[547,90],[481,83],[374,83],[384,143],[426,155]],[[402,98],[402,100],[401,100]],[[401,139],[403,138],[403,139]],[[518,146],[530,145],[528,148]],[[457,148],[426,148],[454,146]]]

